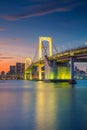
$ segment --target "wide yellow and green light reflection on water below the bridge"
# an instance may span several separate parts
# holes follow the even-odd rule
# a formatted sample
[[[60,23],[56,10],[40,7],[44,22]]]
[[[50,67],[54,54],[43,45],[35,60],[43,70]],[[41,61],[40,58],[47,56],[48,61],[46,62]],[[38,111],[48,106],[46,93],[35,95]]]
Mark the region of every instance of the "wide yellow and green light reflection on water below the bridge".
[[[55,89],[54,84],[45,86],[44,83],[38,83],[37,87],[42,88],[36,93],[37,130],[41,128],[57,130],[62,126],[65,128],[63,121],[65,120],[65,125],[68,124],[70,115],[67,112],[71,108],[71,93],[66,88],[71,88],[71,86],[67,83],[55,84]],[[65,89],[61,90],[61,88]],[[65,117],[66,119],[64,119]]]

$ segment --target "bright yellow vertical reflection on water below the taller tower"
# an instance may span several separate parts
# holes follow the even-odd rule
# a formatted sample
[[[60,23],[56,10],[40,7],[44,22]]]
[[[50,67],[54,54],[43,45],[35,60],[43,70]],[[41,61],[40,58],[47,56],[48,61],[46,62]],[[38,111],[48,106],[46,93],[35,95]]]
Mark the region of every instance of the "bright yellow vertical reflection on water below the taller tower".
[[[38,85],[38,84],[37,84]],[[43,88],[43,84],[40,84]],[[53,91],[46,89],[36,93],[36,126],[37,130],[54,129],[55,117],[57,112],[57,97]]]

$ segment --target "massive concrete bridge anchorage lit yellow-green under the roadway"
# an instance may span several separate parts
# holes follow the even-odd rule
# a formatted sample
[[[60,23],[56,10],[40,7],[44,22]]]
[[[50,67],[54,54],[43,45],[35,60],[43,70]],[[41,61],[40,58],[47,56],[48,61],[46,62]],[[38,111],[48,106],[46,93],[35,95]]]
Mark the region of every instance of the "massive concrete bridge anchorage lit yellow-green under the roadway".
[[[70,80],[71,72],[69,62],[56,63],[55,60],[44,59],[45,80]]]

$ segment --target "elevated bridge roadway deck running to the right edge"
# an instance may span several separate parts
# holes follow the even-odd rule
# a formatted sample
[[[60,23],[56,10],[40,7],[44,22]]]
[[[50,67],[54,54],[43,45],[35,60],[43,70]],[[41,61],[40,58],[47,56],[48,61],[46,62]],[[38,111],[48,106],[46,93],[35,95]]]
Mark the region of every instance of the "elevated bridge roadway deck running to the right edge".
[[[49,60],[54,60],[58,63],[62,63],[70,61],[71,57],[74,57],[76,62],[87,62],[87,46],[65,50],[63,52],[56,53],[48,58]],[[38,65],[40,62],[43,63],[43,60],[33,62],[33,65]]]

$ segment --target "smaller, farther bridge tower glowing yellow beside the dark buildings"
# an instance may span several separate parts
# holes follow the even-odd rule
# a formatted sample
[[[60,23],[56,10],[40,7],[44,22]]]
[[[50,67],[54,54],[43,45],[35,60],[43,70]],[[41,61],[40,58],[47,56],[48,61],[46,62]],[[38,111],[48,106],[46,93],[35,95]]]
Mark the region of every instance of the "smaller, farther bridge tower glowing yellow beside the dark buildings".
[[[25,58],[25,74],[24,79],[27,79],[27,75],[29,75],[30,80],[32,80],[32,72],[29,72],[27,68],[31,65],[32,59],[31,58]]]

